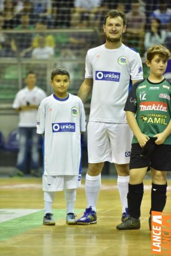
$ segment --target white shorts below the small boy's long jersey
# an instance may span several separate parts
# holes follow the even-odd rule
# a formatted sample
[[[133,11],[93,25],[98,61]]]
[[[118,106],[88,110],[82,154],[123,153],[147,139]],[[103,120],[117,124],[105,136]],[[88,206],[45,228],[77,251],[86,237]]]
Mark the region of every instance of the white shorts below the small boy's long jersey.
[[[43,191],[62,191],[63,189],[76,189],[81,185],[77,175],[42,176]]]

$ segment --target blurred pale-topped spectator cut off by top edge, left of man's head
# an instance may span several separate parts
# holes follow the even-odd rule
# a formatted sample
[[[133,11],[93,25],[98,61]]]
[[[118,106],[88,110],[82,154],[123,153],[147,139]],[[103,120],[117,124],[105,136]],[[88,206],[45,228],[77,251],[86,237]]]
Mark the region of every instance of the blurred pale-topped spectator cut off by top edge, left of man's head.
[[[75,0],[74,12],[72,13],[72,26],[76,27],[93,27],[98,8],[102,0]]]

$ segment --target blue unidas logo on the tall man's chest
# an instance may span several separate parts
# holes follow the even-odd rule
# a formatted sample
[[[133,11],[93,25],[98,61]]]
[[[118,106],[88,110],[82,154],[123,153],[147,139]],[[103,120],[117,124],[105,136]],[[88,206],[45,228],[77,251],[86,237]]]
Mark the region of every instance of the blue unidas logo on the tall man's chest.
[[[95,80],[106,80],[119,82],[120,73],[108,71],[96,71]]]

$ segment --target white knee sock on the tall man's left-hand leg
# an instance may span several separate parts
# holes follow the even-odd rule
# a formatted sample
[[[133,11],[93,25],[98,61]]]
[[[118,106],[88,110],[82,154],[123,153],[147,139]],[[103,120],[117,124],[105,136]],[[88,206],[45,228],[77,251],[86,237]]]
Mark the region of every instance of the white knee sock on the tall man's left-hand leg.
[[[88,207],[92,207],[92,211],[96,211],[98,194],[101,189],[101,174],[90,176],[86,174],[86,198]]]

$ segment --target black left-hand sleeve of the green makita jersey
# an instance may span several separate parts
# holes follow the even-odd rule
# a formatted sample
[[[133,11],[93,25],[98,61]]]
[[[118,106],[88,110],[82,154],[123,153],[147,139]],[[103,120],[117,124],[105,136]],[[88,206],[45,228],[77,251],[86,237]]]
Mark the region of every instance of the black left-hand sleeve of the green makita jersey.
[[[131,92],[127,97],[126,103],[124,110],[125,111],[130,111],[133,113],[137,113],[137,96],[136,96],[136,91],[137,91],[137,86],[140,84],[140,82],[136,82],[132,86]]]

